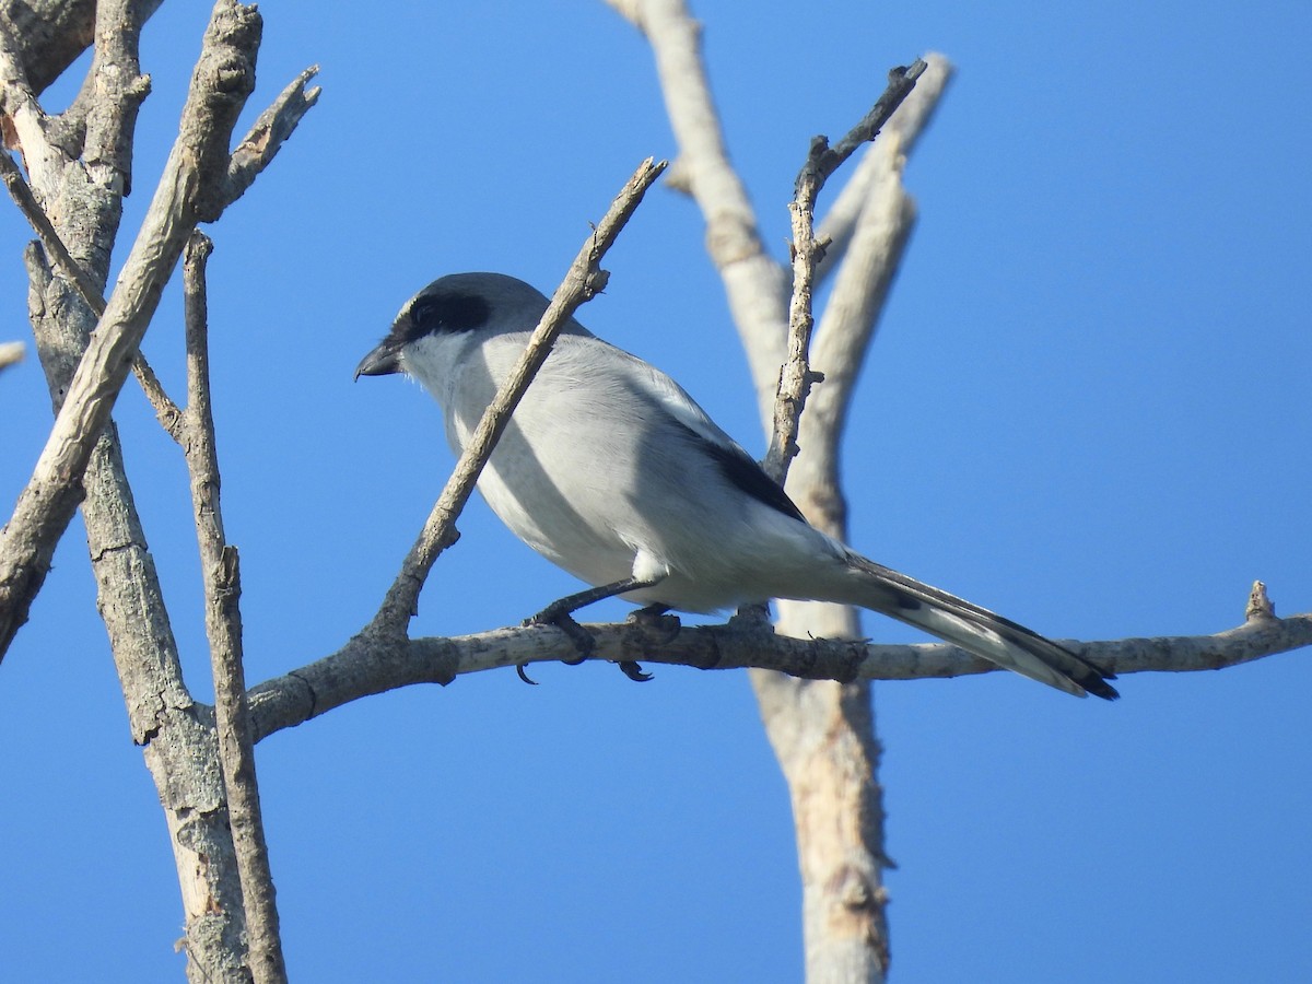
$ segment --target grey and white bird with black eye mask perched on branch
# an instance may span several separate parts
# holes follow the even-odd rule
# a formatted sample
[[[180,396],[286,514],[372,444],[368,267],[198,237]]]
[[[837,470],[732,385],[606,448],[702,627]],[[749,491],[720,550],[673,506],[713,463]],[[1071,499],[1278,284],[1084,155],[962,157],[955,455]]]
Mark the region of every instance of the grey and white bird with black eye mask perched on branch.
[[[442,277],[405,303],[356,375],[417,379],[459,450],[547,303],[505,274]],[[1118,695],[1110,674],[1069,649],[812,527],[678,383],[576,320],[516,409],[479,489],[520,539],[597,585],[558,613],[611,594],[701,613],[769,598],[842,602],[1068,694]]]

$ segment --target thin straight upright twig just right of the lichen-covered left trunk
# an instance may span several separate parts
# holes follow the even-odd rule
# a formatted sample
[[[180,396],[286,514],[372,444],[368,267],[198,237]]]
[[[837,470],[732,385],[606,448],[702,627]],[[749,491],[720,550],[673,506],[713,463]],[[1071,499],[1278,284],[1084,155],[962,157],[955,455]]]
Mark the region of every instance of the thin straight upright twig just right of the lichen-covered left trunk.
[[[256,984],[286,984],[241,663],[240,568],[236,547],[228,546],[223,535],[219,506],[219,457],[210,403],[205,289],[205,265],[213,248],[207,236],[193,232],[182,262],[188,400],[182,424],[186,438],[181,445],[192,476],[192,508],[205,584],[205,631],[214,672],[215,729],[223,785],[228,794],[228,824],[241,880],[249,941],[247,959]]]

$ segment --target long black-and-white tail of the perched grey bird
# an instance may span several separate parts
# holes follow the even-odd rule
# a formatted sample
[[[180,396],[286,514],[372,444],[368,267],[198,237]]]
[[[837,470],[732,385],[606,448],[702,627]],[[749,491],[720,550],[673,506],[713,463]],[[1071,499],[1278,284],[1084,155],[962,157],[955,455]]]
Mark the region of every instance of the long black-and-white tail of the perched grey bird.
[[[967,652],[1068,694],[1093,694],[1105,701],[1120,697],[1106,682],[1115,680],[1115,674],[1105,673],[1017,622],[863,556],[854,554],[850,563],[861,575],[857,601],[862,607],[924,628]]]

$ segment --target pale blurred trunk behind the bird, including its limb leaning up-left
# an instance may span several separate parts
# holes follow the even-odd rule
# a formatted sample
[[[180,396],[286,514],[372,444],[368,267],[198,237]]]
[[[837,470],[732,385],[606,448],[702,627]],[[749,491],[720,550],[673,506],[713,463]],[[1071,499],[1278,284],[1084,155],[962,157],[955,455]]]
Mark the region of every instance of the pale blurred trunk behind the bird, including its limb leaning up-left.
[[[726,282],[761,417],[773,434],[779,365],[786,358],[789,276],[761,249],[756,216],[728,163],[699,58],[699,25],[681,0],[609,3],[652,46],[680,143],[677,163],[706,220],[707,248]],[[794,363],[796,379],[790,388],[808,379],[804,370],[796,373],[799,365]],[[789,488],[810,516],[802,483],[794,480]],[[858,632],[855,614],[842,606],[781,605],[779,613],[781,628],[796,635]],[[750,678],[792,799],[808,977],[880,980],[888,953],[879,874],[882,807],[874,778],[879,749],[869,685],[807,684],[765,672],[753,672]],[[846,820],[838,823],[838,816]],[[830,836],[834,830],[844,837]]]

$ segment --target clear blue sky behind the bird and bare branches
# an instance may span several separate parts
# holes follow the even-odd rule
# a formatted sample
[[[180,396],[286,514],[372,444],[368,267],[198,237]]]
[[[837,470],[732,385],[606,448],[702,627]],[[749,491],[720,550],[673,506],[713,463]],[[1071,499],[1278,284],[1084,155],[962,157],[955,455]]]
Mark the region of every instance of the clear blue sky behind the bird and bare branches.
[[[147,29],[127,235],[205,7]],[[419,388],[352,383],[401,302],[462,269],[550,290],[638,161],[674,151],[644,42],[601,3],[261,9],[248,117],[315,62],[324,96],[209,230],[251,682],[367,619],[450,466]],[[857,547],[1056,636],[1215,632],[1254,579],[1279,613],[1312,609],[1305,5],[694,9],[781,253],[810,136],[844,131],[893,64],[959,67],[908,171],[921,219],[846,441]],[[0,340],[28,337],[26,239],[0,203]],[[607,266],[584,323],[760,450],[693,206],[653,192]],[[178,395],[180,319],[171,290],[146,345]],[[131,383],[117,416],[207,699],[182,463]],[[0,377],[0,420],[8,513],[49,426],[34,361]],[[461,527],[417,632],[576,588],[482,502]],[[388,694],[260,745],[293,977],[796,980],[791,820],[747,678],[535,676]],[[1008,674],[876,687],[895,980],[1312,979],[1312,653],[1122,684],[1117,705]],[[177,980],[173,863],[79,523],[0,669],[0,976]]]

